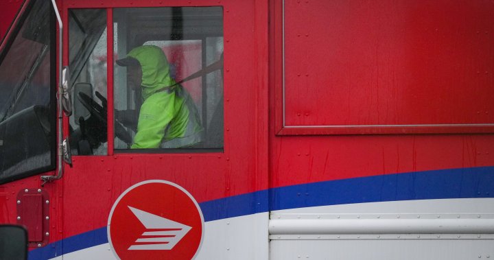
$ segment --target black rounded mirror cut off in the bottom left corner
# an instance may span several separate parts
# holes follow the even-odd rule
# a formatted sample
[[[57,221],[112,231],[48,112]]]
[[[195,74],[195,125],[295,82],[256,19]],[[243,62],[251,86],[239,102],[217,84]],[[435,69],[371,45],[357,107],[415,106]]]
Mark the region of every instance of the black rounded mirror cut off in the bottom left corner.
[[[23,226],[0,225],[0,260],[27,259],[27,231]]]

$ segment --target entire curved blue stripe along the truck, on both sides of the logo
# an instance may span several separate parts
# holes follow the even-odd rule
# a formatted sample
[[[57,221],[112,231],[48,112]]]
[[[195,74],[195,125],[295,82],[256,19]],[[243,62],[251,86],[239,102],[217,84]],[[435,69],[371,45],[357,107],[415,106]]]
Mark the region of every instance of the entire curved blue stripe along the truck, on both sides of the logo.
[[[444,169],[308,183],[211,200],[199,206],[204,221],[209,222],[307,206],[445,198],[494,198],[494,167]],[[67,254],[106,243],[106,227],[98,228],[32,250],[29,259],[49,259],[62,255],[62,252]]]

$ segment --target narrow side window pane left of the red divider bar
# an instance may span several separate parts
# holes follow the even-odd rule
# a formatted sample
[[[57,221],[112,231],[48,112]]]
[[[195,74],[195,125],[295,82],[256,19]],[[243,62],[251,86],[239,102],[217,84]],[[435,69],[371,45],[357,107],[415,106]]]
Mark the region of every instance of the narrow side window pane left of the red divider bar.
[[[104,155],[106,131],[106,10],[69,11],[69,70],[73,115],[71,152]]]

